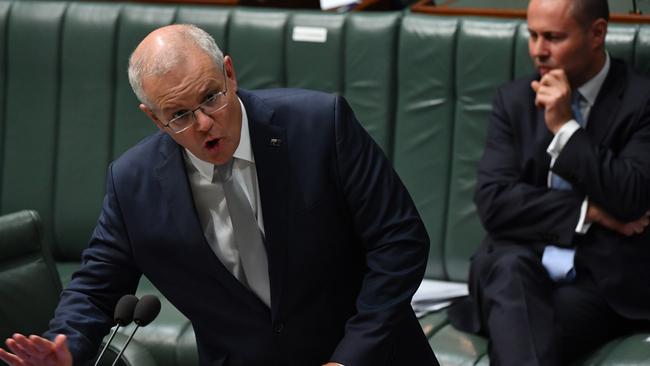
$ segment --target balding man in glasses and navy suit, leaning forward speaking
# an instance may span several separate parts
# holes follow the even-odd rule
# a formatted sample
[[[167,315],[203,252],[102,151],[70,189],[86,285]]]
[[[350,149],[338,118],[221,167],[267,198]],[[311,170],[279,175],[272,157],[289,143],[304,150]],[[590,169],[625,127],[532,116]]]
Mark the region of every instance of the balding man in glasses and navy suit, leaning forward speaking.
[[[188,25],[148,35],[129,77],[160,132],[111,164],[54,341],[17,335],[0,358],[91,359],[144,274],[191,320],[201,365],[437,364],[410,308],[427,234],[343,98],[238,90],[230,57]]]

